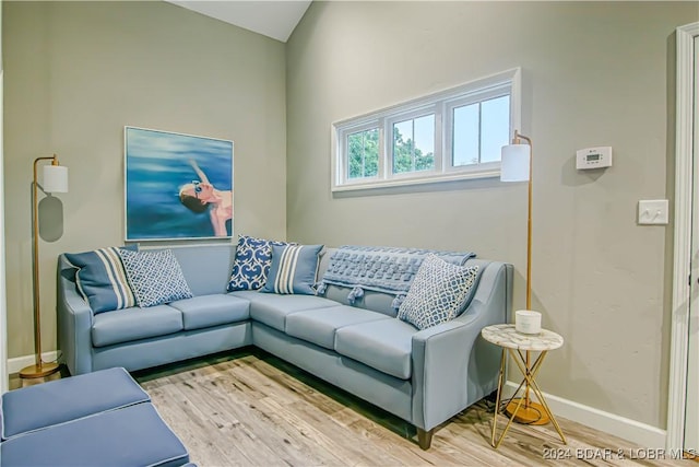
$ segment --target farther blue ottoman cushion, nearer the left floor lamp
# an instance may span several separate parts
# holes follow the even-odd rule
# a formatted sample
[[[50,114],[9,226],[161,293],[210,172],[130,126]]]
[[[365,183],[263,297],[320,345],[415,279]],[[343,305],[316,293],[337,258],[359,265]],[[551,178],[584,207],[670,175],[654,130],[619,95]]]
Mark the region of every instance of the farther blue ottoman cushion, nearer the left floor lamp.
[[[150,400],[122,367],[10,390],[2,395],[2,440]]]

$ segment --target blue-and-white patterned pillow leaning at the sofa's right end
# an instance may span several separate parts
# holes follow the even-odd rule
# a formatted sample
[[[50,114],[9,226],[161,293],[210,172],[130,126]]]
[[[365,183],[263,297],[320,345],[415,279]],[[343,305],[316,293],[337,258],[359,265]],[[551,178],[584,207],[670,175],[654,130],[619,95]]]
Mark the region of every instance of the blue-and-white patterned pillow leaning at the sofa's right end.
[[[418,329],[453,319],[470,299],[477,276],[477,266],[454,266],[435,255],[427,255],[399,308],[398,317]]]

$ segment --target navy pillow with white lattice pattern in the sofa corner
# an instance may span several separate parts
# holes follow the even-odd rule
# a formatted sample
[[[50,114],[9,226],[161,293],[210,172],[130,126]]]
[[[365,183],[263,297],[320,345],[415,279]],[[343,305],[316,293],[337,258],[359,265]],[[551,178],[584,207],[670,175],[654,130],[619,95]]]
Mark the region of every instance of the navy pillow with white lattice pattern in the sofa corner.
[[[264,287],[272,265],[272,245],[284,246],[287,243],[238,235],[228,292],[258,290]]]

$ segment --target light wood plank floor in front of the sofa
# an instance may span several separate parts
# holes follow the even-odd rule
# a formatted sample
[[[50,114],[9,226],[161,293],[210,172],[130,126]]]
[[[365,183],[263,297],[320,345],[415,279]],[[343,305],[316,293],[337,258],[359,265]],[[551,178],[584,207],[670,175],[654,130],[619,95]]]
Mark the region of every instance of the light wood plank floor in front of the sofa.
[[[200,467],[695,465],[639,458],[649,453],[560,418],[568,445],[550,424],[516,424],[496,451],[486,400],[439,427],[422,451],[410,424],[254,349],[134,377]]]

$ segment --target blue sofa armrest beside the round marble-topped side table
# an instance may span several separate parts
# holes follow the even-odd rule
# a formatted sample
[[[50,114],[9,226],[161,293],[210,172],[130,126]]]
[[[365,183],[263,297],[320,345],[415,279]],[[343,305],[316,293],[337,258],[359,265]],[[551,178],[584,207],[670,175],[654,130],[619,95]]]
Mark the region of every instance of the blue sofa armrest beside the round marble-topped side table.
[[[497,385],[499,353],[481,337],[506,323],[512,299],[512,267],[490,262],[469,307],[455,319],[413,336],[413,423],[431,430]]]

